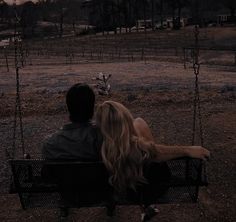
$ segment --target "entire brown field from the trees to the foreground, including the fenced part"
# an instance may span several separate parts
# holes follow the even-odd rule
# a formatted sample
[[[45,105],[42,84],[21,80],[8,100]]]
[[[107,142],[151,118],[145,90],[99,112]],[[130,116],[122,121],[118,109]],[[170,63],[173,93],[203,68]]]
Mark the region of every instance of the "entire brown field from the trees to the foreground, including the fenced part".
[[[233,222],[236,220],[236,29],[200,30],[200,96],[209,186],[200,190],[198,204],[159,206],[152,221]],[[134,117],[149,123],[163,144],[191,144],[195,76],[192,69],[192,30],[46,39],[22,44],[20,72],[25,149],[40,157],[42,140],[68,122],[65,93],[74,83],[111,74],[111,95],[97,95],[97,103],[116,100]],[[184,54],[183,47],[188,48]],[[206,49],[207,48],[207,49]],[[232,50],[234,49],[234,50]],[[3,50],[4,51],[4,50]],[[19,198],[8,194],[15,105],[14,51],[0,52],[0,221],[58,221],[58,210],[23,211]],[[6,55],[9,71],[6,66]],[[185,61],[185,68],[184,68]],[[22,65],[21,64],[21,65]],[[22,157],[19,124],[15,157]],[[197,136],[198,137],[198,136]],[[103,208],[72,209],[69,221],[139,221],[137,206],[119,207],[112,219]]]

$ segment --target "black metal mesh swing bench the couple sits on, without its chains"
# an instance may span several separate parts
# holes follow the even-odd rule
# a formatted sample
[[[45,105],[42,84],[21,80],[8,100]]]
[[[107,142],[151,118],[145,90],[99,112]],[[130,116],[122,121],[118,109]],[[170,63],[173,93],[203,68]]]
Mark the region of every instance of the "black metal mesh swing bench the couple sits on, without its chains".
[[[108,215],[116,205],[196,202],[199,187],[207,185],[202,164],[202,160],[192,158],[152,163],[144,168],[150,184],[117,198],[102,162],[10,160],[15,192],[23,209],[103,206]],[[166,169],[169,176],[163,174]]]

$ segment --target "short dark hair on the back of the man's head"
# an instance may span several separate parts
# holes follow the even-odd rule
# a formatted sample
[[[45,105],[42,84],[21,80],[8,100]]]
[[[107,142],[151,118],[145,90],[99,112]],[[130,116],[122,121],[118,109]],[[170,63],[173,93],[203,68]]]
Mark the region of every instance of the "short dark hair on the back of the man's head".
[[[66,104],[72,122],[88,122],[94,113],[95,94],[87,84],[73,85],[67,92]]]

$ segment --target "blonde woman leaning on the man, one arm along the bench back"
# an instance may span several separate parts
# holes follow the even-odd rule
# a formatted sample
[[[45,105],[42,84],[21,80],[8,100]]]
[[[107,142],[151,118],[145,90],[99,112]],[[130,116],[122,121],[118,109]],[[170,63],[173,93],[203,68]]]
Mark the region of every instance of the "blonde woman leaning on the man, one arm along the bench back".
[[[111,172],[111,183],[118,192],[136,189],[146,183],[143,165],[179,157],[206,160],[210,152],[200,146],[166,146],[154,143],[147,123],[134,119],[122,104],[106,101],[99,105],[96,124],[103,134],[102,159]]]

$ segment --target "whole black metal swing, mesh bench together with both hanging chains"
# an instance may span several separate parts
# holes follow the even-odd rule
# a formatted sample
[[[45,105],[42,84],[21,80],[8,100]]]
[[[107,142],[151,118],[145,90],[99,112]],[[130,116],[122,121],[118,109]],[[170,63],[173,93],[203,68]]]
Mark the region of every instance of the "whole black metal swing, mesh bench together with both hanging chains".
[[[193,64],[195,74],[195,93],[193,101],[193,131],[192,145],[195,144],[196,124],[199,120],[199,133],[203,146],[203,129],[199,95],[198,75],[200,64],[198,61],[198,27],[195,27],[195,60]],[[15,40],[16,41],[16,40]],[[23,209],[44,207],[107,207],[107,214],[112,215],[116,205],[145,204],[142,189],[138,196],[142,198],[123,199],[114,198],[114,190],[108,183],[108,172],[102,162],[80,161],[48,161],[30,159],[24,148],[22,110],[20,101],[19,67],[17,65],[17,42],[15,42],[16,64],[16,105],[14,116],[13,148],[7,150],[12,169],[12,179],[15,192],[18,193]],[[15,159],[17,118],[20,120],[20,135],[22,159]],[[207,185],[205,163],[200,159],[178,158],[167,162],[171,178],[160,181],[158,188],[165,190],[165,194],[152,200],[153,204],[197,202],[200,186]],[[154,167],[155,168],[155,167]],[[152,169],[149,169],[152,170]],[[51,173],[57,172],[54,179]],[[151,194],[150,194],[151,195]]]

